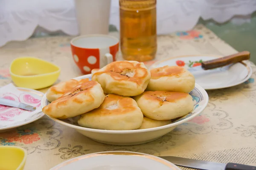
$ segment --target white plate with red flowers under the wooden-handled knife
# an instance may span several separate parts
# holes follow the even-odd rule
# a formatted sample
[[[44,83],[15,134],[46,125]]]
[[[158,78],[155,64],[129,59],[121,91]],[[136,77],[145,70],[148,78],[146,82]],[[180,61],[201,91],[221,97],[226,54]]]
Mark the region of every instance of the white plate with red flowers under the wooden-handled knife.
[[[219,58],[217,56],[179,56],[155,62],[150,69],[165,65],[179,65],[190,69],[198,65],[198,62]],[[252,68],[245,62],[228,65],[213,70],[191,71],[195,76],[195,82],[205,90],[228,88],[247,81],[252,75]]]

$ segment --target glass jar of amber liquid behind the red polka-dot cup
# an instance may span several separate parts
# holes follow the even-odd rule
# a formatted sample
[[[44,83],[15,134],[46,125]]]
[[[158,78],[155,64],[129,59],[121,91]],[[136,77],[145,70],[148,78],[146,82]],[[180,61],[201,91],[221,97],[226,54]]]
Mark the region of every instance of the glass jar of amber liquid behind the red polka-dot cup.
[[[156,0],[119,0],[120,48],[125,60],[155,58],[157,51]]]

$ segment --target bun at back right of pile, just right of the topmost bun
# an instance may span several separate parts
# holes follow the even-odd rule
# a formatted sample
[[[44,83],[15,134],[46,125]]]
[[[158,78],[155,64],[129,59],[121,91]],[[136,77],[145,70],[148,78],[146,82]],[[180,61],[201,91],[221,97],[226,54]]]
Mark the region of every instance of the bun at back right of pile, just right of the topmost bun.
[[[150,70],[146,91],[177,91],[189,93],[195,88],[195,77],[185,68],[164,66]]]

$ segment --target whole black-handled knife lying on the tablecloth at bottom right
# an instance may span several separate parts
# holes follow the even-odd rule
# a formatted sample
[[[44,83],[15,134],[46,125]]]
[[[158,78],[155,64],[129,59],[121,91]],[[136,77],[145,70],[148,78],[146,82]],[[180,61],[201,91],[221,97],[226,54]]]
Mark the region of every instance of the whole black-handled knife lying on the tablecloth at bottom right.
[[[255,166],[244,165],[244,164],[235,164],[235,163],[218,163],[210,161],[201,161],[196,159],[181,158],[175,156],[160,156],[167,161],[172,162],[173,164],[190,167],[199,170],[256,170]]]

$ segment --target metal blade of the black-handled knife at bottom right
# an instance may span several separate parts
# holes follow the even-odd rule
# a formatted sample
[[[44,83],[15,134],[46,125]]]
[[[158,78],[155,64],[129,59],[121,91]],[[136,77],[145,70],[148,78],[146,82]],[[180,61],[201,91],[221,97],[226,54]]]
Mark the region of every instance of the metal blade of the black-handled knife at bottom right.
[[[200,170],[225,170],[226,164],[217,163],[217,162],[209,162],[209,161],[201,161],[195,159],[181,158],[175,156],[160,156],[167,161],[172,162],[173,164],[182,166],[182,167],[191,167]]]

